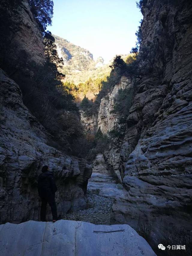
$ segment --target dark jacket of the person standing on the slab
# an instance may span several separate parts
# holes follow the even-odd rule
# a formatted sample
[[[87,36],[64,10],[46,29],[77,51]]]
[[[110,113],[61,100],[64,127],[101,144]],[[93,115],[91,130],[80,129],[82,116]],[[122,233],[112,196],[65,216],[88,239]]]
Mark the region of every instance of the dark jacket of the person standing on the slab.
[[[46,171],[41,173],[38,177],[38,192],[41,196],[42,194],[54,194],[57,191],[57,186],[55,184],[55,179],[52,172]]]

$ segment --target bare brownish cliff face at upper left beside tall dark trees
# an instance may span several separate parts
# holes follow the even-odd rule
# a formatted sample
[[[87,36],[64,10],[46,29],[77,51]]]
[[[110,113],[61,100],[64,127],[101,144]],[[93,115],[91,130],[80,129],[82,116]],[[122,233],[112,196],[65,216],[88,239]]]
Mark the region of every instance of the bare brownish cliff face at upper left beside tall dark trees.
[[[4,2],[6,1],[2,0],[2,6]],[[10,11],[9,21],[6,20],[6,24],[10,24],[7,27],[10,35],[7,39],[6,49],[4,49],[5,54],[7,53],[6,58],[8,62],[15,61],[15,65],[22,65],[22,62],[23,64],[26,62],[35,62],[39,65],[44,64],[46,58],[44,55],[43,38],[39,26],[30,11],[27,0],[22,0],[19,4],[15,5],[15,9],[13,8],[12,12]],[[5,35],[3,34],[1,37],[2,42],[4,42]]]

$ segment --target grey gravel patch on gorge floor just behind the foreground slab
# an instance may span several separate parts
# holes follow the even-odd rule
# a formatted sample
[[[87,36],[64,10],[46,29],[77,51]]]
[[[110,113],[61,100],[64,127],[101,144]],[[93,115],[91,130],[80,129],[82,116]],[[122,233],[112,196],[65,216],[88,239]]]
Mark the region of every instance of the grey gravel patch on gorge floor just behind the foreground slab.
[[[110,213],[114,199],[99,196],[94,191],[88,191],[85,201],[87,209],[65,214],[63,219],[110,225]]]

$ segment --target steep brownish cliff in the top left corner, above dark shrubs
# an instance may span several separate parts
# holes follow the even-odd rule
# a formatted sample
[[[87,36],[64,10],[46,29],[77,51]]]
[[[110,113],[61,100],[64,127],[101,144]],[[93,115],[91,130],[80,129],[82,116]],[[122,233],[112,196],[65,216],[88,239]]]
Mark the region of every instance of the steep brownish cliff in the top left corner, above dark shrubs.
[[[19,72],[22,65],[27,67],[29,62],[43,65],[46,61],[43,38],[28,1],[2,0],[0,17],[1,57],[6,65],[14,66],[13,73]]]

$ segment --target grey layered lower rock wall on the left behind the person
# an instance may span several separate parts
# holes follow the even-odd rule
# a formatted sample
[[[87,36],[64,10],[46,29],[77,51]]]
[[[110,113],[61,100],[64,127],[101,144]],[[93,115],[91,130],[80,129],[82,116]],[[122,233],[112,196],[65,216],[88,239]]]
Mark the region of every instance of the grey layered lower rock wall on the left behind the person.
[[[37,178],[43,165],[54,172],[58,215],[84,209],[92,169],[47,145],[50,135],[22,103],[19,86],[0,71],[0,219],[38,220]],[[50,214],[48,219],[50,218]]]

